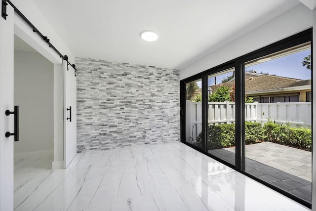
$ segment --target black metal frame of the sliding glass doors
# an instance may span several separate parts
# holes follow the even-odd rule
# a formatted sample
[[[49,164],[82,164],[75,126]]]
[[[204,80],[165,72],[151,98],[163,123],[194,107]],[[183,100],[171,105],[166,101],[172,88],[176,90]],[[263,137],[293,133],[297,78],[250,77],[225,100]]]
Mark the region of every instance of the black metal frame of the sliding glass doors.
[[[196,149],[197,151],[225,164],[226,166],[229,166],[238,172],[272,188],[273,190],[285,195],[286,197],[308,207],[312,208],[312,204],[295,196],[292,195],[285,190],[282,190],[254,175],[251,175],[245,171],[245,139],[244,139],[244,109],[245,109],[245,104],[244,104],[244,97],[245,97],[245,90],[244,90],[244,79],[245,79],[245,74],[244,74],[244,64],[248,61],[252,61],[254,59],[258,59],[260,57],[290,48],[294,47],[306,42],[311,42],[311,61],[313,61],[313,28],[307,29],[305,31],[302,31],[300,33],[297,33],[296,35],[290,36],[288,38],[285,38],[281,41],[272,43],[270,45],[267,45],[265,47],[262,47],[258,50],[254,50],[250,53],[247,53],[245,55],[242,55],[236,59],[230,60],[228,62],[225,62],[221,65],[218,65],[216,67],[210,68],[208,70],[205,70],[201,73],[198,73],[192,77],[189,77],[187,79],[181,80],[180,81],[180,107],[181,107],[181,116],[180,116],[180,121],[181,121],[181,142]],[[235,67],[235,87],[236,87],[236,96],[235,96],[235,102],[236,102],[236,160],[235,160],[235,165],[232,165],[231,163],[228,163],[218,157],[215,157],[213,155],[210,155],[209,153],[206,152],[205,149],[207,149],[207,137],[206,137],[206,131],[207,131],[207,119],[206,119],[206,114],[207,114],[207,77],[209,75],[221,72],[223,70],[233,68]],[[311,68],[311,74],[312,74],[312,79],[313,79],[313,66]],[[185,83],[188,83],[190,81],[194,81],[195,79],[201,79],[202,80],[202,141],[204,143],[203,149],[199,149],[190,143],[187,143],[185,141],[185,135],[186,135],[186,120],[185,120]],[[313,93],[313,80],[312,80],[312,93]],[[313,94],[312,94],[312,108],[313,108]],[[313,109],[312,109],[312,129],[313,129]],[[313,140],[313,137],[312,137]],[[312,142],[312,149],[313,149],[313,142]],[[312,150],[313,152],[313,150]],[[312,154],[313,156],[313,154]]]

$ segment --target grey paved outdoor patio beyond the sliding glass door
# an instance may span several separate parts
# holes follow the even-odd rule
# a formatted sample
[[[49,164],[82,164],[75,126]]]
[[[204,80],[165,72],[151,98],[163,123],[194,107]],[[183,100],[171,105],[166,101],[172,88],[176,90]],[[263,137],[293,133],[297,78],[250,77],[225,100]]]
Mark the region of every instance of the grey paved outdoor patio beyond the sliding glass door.
[[[235,147],[209,150],[235,163]],[[272,142],[246,145],[246,172],[312,202],[312,153]]]

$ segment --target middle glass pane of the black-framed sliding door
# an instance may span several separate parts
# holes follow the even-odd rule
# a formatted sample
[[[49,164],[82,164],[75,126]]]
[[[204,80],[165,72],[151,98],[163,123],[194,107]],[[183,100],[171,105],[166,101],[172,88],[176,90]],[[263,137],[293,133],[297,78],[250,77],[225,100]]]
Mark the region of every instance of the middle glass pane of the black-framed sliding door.
[[[208,76],[207,152],[235,165],[235,68]]]

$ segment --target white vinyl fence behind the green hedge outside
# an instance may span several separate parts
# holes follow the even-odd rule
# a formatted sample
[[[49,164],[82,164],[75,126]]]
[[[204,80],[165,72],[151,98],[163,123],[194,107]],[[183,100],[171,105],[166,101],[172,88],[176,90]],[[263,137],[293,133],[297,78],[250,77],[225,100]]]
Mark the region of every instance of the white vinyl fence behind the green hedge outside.
[[[262,125],[268,119],[291,127],[311,128],[311,102],[295,103],[245,103],[245,121],[259,122]],[[235,103],[208,102],[208,124],[221,125],[235,123]],[[196,140],[202,130],[201,102],[186,101],[187,138]]]

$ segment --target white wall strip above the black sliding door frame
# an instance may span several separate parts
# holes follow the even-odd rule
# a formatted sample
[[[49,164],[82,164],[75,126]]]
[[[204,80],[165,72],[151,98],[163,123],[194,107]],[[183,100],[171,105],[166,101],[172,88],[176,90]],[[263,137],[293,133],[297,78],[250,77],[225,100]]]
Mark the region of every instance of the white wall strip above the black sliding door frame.
[[[180,70],[180,80],[223,64],[313,26],[313,12],[299,4]]]

